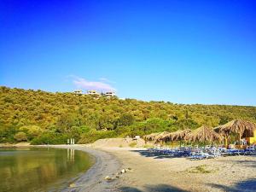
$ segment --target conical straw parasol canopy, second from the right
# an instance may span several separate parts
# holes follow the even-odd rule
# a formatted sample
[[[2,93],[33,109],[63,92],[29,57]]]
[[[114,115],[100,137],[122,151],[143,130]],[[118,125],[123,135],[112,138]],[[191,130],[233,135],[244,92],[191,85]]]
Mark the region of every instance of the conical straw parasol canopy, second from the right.
[[[222,137],[217,132],[213,131],[212,128],[203,125],[195,131],[190,132],[184,139],[189,142],[212,143],[213,141],[220,141],[221,138]]]

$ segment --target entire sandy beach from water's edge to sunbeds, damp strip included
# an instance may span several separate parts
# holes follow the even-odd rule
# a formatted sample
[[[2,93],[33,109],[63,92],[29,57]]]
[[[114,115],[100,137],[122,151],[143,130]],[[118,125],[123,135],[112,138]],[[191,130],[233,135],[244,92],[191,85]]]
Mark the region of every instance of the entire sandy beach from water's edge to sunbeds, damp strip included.
[[[93,155],[96,162],[73,178],[73,186],[61,191],[88,192],[253,192],[256,186],[256,155],[219,157],[209,160],[172,158],[148,152],[147,148],[108,148],[90,145],[37,145],[26,147],[72,148]],[[21,147],[23,148],[23,146]],[[130,168],[119,178],[121,168]],[[194,172],[201,167],[203,172]],[[205,169],[205,170],[204,170]]]

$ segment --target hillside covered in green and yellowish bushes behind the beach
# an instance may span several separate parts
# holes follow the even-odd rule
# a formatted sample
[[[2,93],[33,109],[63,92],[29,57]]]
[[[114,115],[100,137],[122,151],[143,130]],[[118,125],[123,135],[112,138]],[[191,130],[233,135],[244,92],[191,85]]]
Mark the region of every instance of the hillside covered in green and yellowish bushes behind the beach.
[[[0,143],[79,143],[98,138],[256,122],[256,107],[184,105],[0,87]]]

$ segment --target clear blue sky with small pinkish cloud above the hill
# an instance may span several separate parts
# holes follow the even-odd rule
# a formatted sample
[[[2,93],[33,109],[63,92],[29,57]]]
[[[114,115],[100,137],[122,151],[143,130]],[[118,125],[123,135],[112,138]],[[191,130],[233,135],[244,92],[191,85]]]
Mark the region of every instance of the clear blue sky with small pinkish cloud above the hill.
[[[255,1],[0,0],[0,84],[256,106]]]

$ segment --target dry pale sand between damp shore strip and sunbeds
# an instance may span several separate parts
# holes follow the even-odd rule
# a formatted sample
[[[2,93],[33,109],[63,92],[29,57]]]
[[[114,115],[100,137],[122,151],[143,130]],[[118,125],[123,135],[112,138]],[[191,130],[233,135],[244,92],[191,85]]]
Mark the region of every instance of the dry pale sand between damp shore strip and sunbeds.
[[[125,167],[120,191],[256,191],[256,156],[188,160],[148,153],[145,148],[103,148]],[[207,172],[194,172],[202,166]]]

